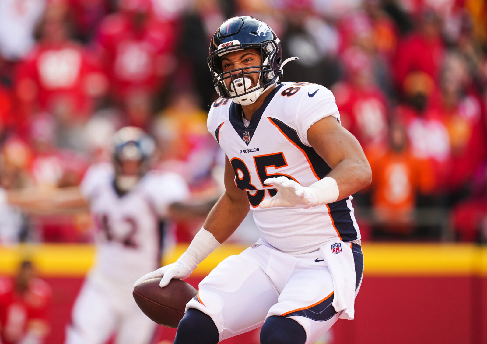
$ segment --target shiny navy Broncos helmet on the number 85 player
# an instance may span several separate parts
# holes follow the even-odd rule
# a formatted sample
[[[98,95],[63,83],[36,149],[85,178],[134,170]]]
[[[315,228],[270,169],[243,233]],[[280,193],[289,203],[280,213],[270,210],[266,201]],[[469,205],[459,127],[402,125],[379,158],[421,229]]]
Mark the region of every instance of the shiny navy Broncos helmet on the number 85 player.
[[[243,49],[256,48],[261,53],[261,65],[234,69],[223,72],[222,56]],[[297,57],[289,58],[297,59]],[[259,19],[250,16],[234,17],[220,25],[211,39],[208,67],[215,83],[215,88],[222,98],[231,98],[241,105],[249,105],[257,100],[266,90],[282,77],[281,42],[274,31]],[[257,71],[250,69],[259,68]],[[258,73],[257,86],[250,87],[251,73]],[[225,79],[230,79],[229,87]]]

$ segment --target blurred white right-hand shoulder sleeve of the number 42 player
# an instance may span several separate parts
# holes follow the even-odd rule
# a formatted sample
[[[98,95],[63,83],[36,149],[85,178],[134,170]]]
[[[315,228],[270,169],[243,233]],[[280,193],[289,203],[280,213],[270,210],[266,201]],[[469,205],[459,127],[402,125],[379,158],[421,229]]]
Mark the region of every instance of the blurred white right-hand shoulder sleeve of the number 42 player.
[[[172,203],[186,201],[189,188],[182,176],[172,172],[150,172],[144,181],[144,190],[150,195],[157,214],[165,217]]]

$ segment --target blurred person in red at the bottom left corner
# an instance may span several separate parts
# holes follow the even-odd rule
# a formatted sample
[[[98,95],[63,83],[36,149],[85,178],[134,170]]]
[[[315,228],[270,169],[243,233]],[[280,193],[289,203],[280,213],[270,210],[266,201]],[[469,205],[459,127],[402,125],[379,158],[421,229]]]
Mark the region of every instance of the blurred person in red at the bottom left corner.
[[[51,294],[28,260],[20,263],[14,279],[0,279],[0,343],[45,343]]]

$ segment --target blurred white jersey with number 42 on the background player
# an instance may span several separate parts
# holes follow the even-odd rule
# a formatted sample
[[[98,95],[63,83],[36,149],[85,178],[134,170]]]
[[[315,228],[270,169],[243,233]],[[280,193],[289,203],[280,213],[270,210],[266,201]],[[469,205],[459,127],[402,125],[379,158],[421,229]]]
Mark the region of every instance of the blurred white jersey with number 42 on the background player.
[[[94,219],[96,263],[91,276],[130,287],[160,265],[162,219],[168,207],[189,196],[184,179],[172,172],[149,172],[126,194],[114,188],[113,165],[86,172],[80,189]]]

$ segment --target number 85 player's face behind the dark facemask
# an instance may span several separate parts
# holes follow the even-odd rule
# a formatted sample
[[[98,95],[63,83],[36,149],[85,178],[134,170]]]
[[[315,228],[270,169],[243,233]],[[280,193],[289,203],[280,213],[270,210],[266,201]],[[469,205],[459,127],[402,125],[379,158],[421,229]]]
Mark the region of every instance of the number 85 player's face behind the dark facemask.
[[[239,68],[246,68],[244,72],[251,72],[251,71],[259,71],[260,68],[249,68],[252,66],[260,66],[262,63],[261,54],[258,49],[245,49],[240,51],[234,51],[231,53],[227,53],[222,57],[222,69],[224,72],[230,72],[234,69]],[[242,77],[242,70],[237,70],[231,73],[224,74],[225,78],[225,85],[227,88],[230,88],[231,79],[238,79]],[[259,73],[251,73],[245,74],[246,78],[249,78],[252,81],[251,87],[257,86],[257,82],[259,81]]]

